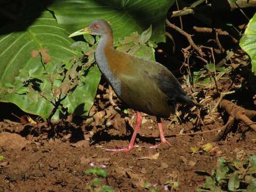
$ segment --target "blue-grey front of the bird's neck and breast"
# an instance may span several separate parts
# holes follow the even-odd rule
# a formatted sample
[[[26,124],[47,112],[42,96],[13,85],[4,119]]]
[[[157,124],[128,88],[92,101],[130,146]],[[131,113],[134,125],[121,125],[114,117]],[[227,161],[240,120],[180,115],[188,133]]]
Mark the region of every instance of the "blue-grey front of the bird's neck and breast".
[[[107,81],[113,87],[116,94],[119,97],[121,97],[121,83],[111,72],[111,70],[109,68],[109,65],[108,65],[108,60],[107,60],[107,57],[106,57],[106,54],[105,54],[105,47],[106,46],[113,46],[113,44],[108,44],[108,41],[111,40],[109,38],[111,38],[111,37],[109,37],[108,35],[102,35],[100,37],[100,41],[98,43],[98,47],[97,47],[97,50],[95,52],[95,60],[97,62],[97,65],[98,65],[101,73],[103,74],[103,76],[105,76]],[[114,47],[113,47],[113,49],[114,49]]]

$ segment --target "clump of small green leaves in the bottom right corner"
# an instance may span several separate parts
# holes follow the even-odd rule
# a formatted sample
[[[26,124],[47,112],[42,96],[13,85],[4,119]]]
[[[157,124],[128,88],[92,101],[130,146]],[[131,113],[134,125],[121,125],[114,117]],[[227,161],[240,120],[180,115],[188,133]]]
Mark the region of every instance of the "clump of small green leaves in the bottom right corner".
[[[206,182],[197,191],[256,191],[256,155],[249,156],[246,161],[239,159],[226,161],[219,158],[211,174],[206,175]]]

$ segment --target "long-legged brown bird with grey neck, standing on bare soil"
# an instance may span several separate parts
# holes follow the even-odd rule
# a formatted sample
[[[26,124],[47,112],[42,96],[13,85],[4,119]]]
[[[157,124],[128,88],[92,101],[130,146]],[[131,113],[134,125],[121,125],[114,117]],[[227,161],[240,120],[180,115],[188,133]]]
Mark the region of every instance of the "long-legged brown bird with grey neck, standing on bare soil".
[[[106,20],[94,20],[88,27],[75,31],[69,37],[83,34],[100,36],[94,57],[101,74],[117,97],[137,111],[137,123],[129,145],[106,150],[127,152],[134,148],[142,121],[141,112],[157,117],[161,143],[171,146],[164,137],[161,118],[173,115],[178,103],[188,106],[201,104],[188,97],[177,78],[161,63],[115,50],[113,30]]]

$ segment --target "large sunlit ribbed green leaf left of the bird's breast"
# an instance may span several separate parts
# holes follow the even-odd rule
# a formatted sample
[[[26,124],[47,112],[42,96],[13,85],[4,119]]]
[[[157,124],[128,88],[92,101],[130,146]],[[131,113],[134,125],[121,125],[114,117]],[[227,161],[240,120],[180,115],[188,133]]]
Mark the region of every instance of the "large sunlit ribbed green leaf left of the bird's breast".
[[[17,29],[13,24],[0,30],[4,34],[16,27],[12,33],[0,35],[0,101],[47,118],[60,98],[62,109],[68,107],[69,113],[87,115],[100,80],[97,66],[82,68],[78,75],[74,75],[77,66],[82,66],[78,61],[70,61],[68,70],[63,68],[62,62],[68,63],[78,55],[71,49],[73,39],[49,11],[42,12],[35,21],[31,21],[29,15],[35,13],[30,11],[20,22],[32,23],[28,28]],[[62,109],[54,118],[59,118]]]

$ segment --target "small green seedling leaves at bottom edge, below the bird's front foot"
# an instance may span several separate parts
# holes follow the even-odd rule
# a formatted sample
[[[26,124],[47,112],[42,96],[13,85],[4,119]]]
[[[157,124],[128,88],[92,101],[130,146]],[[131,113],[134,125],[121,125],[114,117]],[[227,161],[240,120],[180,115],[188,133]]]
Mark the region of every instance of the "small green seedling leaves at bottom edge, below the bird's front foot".
[[[86,188],[89,191],[93,192],[114,192],[114,189],[108,185],[102,185],[102,180],[99,177],[106,178],[108,172],[102,168],[92,167],[85,171],[85,174],[94,175],[95,178],[92,179],[89,183],[89,186]]]

